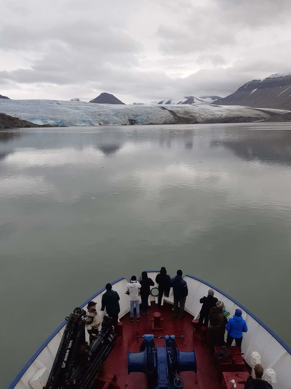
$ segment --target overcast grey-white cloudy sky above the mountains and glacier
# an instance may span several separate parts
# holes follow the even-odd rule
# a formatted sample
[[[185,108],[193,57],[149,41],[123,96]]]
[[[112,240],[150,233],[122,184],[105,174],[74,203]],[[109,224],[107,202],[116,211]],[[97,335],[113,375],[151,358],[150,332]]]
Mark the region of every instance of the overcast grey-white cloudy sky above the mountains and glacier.
[[[290,0],[6,0],[0,94],[225,97],[291,73]]]

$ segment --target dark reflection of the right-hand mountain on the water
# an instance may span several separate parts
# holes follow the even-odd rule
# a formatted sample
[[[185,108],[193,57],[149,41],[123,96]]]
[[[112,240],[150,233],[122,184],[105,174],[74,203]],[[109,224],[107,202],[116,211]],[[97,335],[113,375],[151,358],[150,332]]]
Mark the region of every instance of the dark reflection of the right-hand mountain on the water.
[[[248,161],[259,160],[267,163],[291,164],[291,132],[278,131],[254,134],[248,132],[248,137],[236,139],[212,140],[211,147],[224,146],[231,149],[234,154]],[[270,134],[271,135],[271,134]]]

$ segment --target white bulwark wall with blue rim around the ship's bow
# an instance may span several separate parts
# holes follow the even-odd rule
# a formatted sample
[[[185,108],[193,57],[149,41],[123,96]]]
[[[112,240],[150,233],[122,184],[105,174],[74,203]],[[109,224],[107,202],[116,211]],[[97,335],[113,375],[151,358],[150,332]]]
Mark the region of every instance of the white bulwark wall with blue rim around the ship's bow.
[[[149,272],[149,276],[155,279],[158,272]],[[272,368],[277,374],[277,383],[273,384],[274,389],[291,389],[291,352],[290,349],[284,344],[268,327],[264,326],[258,318],[256,318],[251,312],[239,305],[237,301],[233,300],[230,296],[225,295],[222,291],[217,290],[210,284],[197,279],[193,276],[186,275],[184,277],[188,284],[189,294],[186,299],[185,310],[196,317],[201,309],[199,299],[203,295],[207,295],[209,286],[215,291],[215,297],[222,300],[230,313],[234,313],[236,308],[243,310],[243,317],[247,321],[248,332],[244,334],[244,340],[242,344],[242,353],[246,362],[251,365],[251,354],[253,351],[257,351],[261,355],[261,364],[264,369]],[[113,283],[113,289],[116,290],[120,296],[120,314],[121,319],[126,313],[129,312],[129,299],[124,293],[128,280],[120,278]],[[97,302],[97,309],[100,310],[101,298],[104,290],[102,289],[96,295],[90,297],[84,302],[81,308],[86,308],[87,302],[91,299]],[[154,297],[151,297],[154,300]],[[165,301],[173,304],[172,289],[169,297],[165,297]],[[67,312],[65,312],[67,314]],[[46,342],[40,347],[40,349],[34,354],[30,361],[21,370],[9,389],[31,389],[29,383],[33,376],[41,369],[47,369],[50,371],[59,347],[60,340],[65,328],[66,322],[62,325],[46,340]],[[41,385],[40,385],[41,387]],[[37,388],[37,386],[35,386]]]

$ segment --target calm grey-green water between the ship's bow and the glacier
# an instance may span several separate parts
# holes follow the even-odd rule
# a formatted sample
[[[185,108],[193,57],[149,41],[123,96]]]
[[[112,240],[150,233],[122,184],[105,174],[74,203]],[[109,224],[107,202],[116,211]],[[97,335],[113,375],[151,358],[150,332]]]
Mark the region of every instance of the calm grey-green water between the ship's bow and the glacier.
[[[288,123],[1,131],[0,387],[87,297],[160,266],[291,344],[290,193]]]

